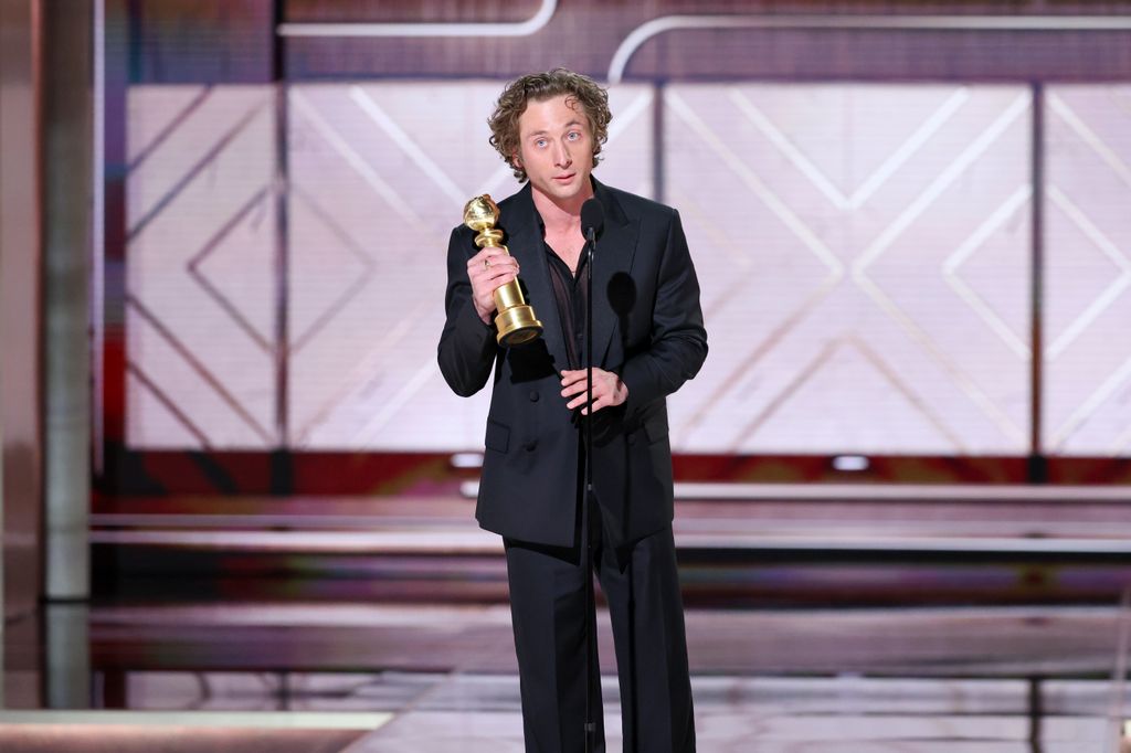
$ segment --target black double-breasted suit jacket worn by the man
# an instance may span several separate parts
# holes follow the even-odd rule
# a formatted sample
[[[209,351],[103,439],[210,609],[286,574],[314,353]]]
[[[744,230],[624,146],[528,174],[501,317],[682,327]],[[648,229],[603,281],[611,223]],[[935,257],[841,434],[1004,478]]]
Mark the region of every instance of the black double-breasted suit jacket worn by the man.
[[[594,491],[605,535],[627,544],[672,522],[671,395],[707,356],[699,282],[679,214],[593,181],[604,209],[594,263],[594,363],[620,374],[628,400],[594,423]],[[482,389],[494,370],[476,518],[510,538],[573,545],[579,426],[561,397],[566,343],[530,185],[504,199],[498,226],[521,267],[527,302],[545,327],[532,344],[502,348],[475,313],[467,260],[475,233],[459,226],[448,245],[447,321],[439,362],[458,395]]]

